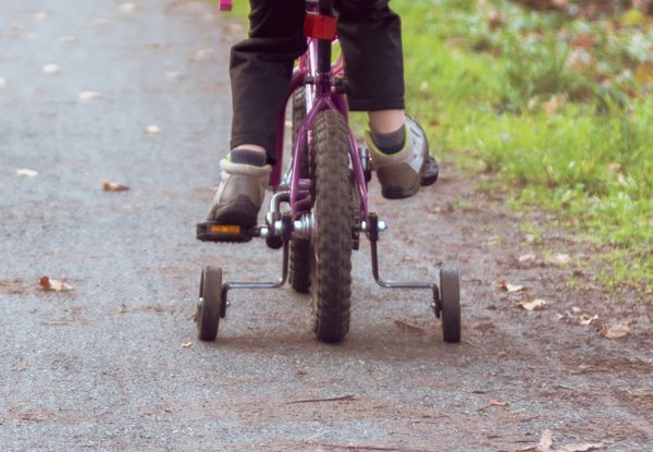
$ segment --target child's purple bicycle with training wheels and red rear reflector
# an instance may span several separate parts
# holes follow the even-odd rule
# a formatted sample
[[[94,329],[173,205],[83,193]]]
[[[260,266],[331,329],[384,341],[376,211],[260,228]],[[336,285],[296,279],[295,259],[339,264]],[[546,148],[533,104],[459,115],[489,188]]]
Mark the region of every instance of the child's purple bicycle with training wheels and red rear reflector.
[[[323,342],[342,341],[349,329],[352,251],[360,236],[370,241],[372,274],[390,289],[424,289],[432,293],[435,317],[442,319],[445,342],[460,341],[460,290],[456,269],[440,270],[433,282],[384,281],[379,277],[379,235],[386,224],[370,211],[367,183],[371,178],[366,148],[359,148],[347,124],[346,78],[341,59],[332,63],[336,39],[333,0],[307,0],[304,32],[308,50],[293,74],[287,101],[292,102],[292,161],[282,179],[285,110],[280,112],[276,163],[270,185],[274,195],[266,224],[243,229],[211,222],[197,225],[197,239],[208,242],[248,242],[264,237],[271,248],[283,248],[282,276],[273,282],[222,282],[222,269],[201,272],[196,321],[199,339],[214,341],[225,317],[227,294],[234,289],[275,289],[289,280],[293,289],[310,293],[312,325]],[[231,0],[221,0],[231,9]],[[422,185],[438,179],[438,163],[428,159]],[[282,205],[286,205],[282,209]]]

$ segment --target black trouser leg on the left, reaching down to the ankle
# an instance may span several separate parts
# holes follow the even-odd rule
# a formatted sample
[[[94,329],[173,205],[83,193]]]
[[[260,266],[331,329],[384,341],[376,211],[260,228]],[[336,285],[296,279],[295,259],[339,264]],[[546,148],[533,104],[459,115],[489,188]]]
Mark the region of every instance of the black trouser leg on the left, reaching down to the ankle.
[[[304,0],[250,0],[249,36],[232,47],[232,148],[262,146],[274,161],[280,111],[293,62],[306,49]]]

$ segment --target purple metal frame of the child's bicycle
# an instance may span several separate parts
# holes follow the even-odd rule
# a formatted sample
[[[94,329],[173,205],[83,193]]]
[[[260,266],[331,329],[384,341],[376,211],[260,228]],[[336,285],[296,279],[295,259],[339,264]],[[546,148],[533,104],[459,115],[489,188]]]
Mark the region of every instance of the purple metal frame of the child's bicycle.
[[[307,12],[310,7],[307,8]],[[324,110],[334,110],[337,111],[345,118],[345,121],[348,121],[348,107],[345,96],[341,93],[337,93],[334,87],[334,80],[336,77],[344,75],[344,63],[342,60],[342,56],[331,65],[331,71],[329,73],[319,72],[317,69],[317,54],[318,54],[318,39],[308,38],[308,49],[306,53],[304,53],[297,60],[297,66],[293,71],[293,77],[291,81],[291,86],[288,93],[286,95],[286,102],[291,99],[291,96],[295,91],[295,89],[305,86],[308,86],[305,82],[307,77],[312,78],[315,85],[315,96],[307,96],[307,100],[312,99],[312,106],[301,122],[298,131],[298,136],[307,136],[308,149],[310,152],[310,134],[308,131],[311,130],[312,122],[316,117]],[[285,108],[282,109],[279,115],[279,121],[276,125],[276,142],[275,142],[275,156],[276,163],[272,168],[272,173],[270,175],[270,185],[273,187],[278,187],[281,183],[282,171],[283,171],[283,144],[284,144],[284,129],[285,129]],[[365,181],[365,175],[362,171],[362,164],[360,161],[360,154],[358,151],[358,145],[356,143],[356,137],[354,133],[349,129],[349,158],[352,161],[352,169],[354,171],[354,182],[356,185],[356,190],[358,191],[358,195],[360,198],[359,206],[359,219],[366,220],[368,217],[368,194],[367,194],[367,185]],[[301,152],[301,139],[297,139],[295,143],[294,149],[292,149],[292,168],[291,168],[291,183],[289,183],[289,192],[291,192],[291,212],[293,219],[296,219],[299,215],[305,213],[310,209],[299,203],[301,198],[299,192],[300,187],[305,186],[305,184],[300,184],[300,168],[303,158],[311,158],[310,155],[303,156]]]

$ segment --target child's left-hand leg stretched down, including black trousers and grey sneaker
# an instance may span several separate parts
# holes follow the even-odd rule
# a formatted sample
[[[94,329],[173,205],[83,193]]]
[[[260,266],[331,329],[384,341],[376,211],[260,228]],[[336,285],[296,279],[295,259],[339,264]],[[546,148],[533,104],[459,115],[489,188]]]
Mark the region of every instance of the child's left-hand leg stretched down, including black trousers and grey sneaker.
[[[257,223],[293,62],[306,48],[304,0],[249,3],[249,37],[231,52],[232,150],[220,162],[220,185],[208,216],[244,227]]]

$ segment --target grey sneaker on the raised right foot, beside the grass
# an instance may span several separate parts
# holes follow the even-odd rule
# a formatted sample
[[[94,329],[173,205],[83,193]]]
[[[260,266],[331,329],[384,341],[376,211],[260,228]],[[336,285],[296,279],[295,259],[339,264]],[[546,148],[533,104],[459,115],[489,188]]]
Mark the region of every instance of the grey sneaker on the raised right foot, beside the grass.
[[[427,181],[422,178],[426,163],[431,163],[433,159],[429,158],[429,144],[424,131],[414,119],[406,117],[404,148],[396,154],[387,155],[379,150],[369,132],[366,132],[366,142],[370,148],[372,170],[377,171],[383,197],[407,198],[415,195],[420,185],[435,182],[434,179]]]

